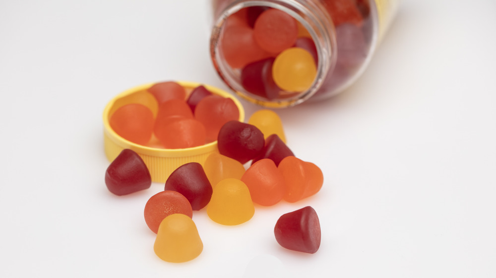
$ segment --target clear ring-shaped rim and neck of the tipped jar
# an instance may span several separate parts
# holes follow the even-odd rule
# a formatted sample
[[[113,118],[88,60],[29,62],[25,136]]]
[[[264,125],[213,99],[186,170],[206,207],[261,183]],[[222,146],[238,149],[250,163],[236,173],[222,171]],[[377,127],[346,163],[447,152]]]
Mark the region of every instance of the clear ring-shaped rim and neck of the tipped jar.
[[[226,4],[228,3],[228,4]],[[265,107],[290,107],[297,105],[315,94],[322,86],[329,72],[332,72],[336,64],[336,47],[335,29],[329,14],[325,8],[315,0],[235,0],[225,1],[224,8],[215,10],[214,7],[214,26],[210,38],[210,55],[213,65],[224,80],[224,82],[238,93],[241,97],[250,102]],[[222,59],[219,51],[219,41],[222,28],[226,19],[241,10],[250,6],[266,6],[276,8],[298,20],[305,27],[313,40],[318,56],[316,65],[317,74],[307,91],[297,93],[290,98],[281,99],[264,99],[253,95],[244,90],[239,82],[236,72]]]

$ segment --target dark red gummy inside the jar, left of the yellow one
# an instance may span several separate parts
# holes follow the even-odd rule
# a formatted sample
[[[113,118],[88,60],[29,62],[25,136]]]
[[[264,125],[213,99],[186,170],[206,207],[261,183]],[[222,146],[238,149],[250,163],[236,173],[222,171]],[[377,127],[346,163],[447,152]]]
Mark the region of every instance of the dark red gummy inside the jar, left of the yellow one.
[[[281,89],[272,78],[272,64],[275,58],[270,57],[246,65],[241,70],[241,85],[249,93],[259,95],[267,99],[279,96]]]

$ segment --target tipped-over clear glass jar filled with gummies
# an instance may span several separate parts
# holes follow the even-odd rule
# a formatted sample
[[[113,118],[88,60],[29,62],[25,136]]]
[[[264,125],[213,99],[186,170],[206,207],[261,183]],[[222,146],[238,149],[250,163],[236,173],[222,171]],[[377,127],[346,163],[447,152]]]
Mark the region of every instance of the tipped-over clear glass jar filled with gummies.
[[[231,89],[261,106],[328,98],[362,74],[396,6],[397,0],[212,0],[212,62]]]

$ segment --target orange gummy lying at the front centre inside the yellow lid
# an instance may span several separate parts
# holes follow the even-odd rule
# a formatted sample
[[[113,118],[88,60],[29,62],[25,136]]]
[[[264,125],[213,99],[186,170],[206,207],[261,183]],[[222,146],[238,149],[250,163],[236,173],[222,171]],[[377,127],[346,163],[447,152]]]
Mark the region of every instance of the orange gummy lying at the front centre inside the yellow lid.
[[[205,144],[205,127],[199,121],[186,118],[174,119],[155,130],[155,135],[164,148],[190,148]]]

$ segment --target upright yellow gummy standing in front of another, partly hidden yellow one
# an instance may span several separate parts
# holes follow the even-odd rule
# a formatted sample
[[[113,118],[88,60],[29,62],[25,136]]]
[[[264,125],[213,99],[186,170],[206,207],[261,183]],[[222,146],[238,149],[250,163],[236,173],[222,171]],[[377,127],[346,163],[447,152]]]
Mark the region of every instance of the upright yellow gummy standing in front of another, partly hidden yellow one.
[[[222,225],[239,225],[253,217],[255,207],[247,185],[237,179],[225,179],[215,185],[207,214]]]

